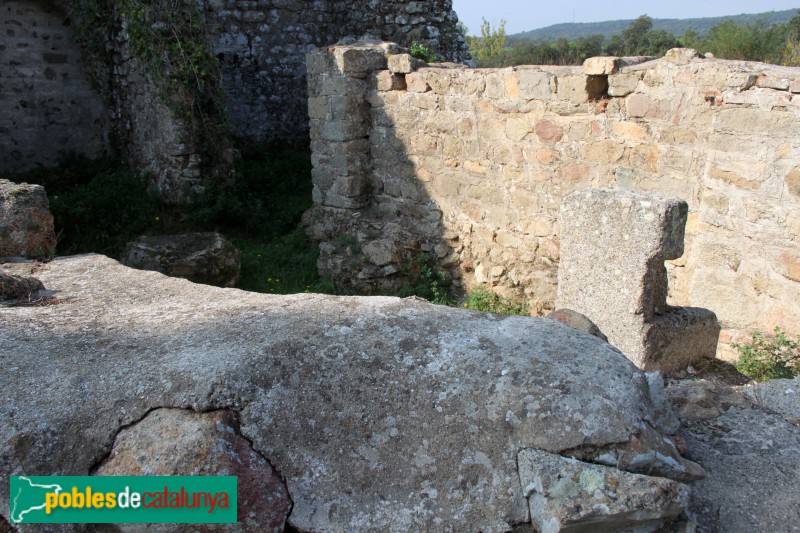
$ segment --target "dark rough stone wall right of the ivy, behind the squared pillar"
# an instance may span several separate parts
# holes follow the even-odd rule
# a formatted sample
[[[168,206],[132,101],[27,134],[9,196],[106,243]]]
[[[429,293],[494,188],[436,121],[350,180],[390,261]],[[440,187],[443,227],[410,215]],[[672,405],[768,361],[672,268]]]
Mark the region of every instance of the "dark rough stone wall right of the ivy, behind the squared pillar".
[[[466,59],[451,0],[206,0],[233,134],[251,143],[308,138],[305,53],[373,34]]]

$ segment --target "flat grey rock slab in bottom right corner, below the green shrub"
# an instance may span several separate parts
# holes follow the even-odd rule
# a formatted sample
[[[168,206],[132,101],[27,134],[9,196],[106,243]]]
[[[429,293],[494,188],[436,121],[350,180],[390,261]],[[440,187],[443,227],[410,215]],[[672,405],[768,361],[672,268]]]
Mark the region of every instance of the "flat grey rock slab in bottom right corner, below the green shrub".
[[[667,388],[681,421],[675,439],[707,474],[692,484],[690,514],[697,531],[793,531],[800,523],[800,428],[772,412],[766,400],[777,396],[780,405],[779,395],[792,381],[774,382],[761,384],[765,394],[753,402],[746,397],[756,392],[752,387],[743,387],[743,394],[738,387],[699,380]]]

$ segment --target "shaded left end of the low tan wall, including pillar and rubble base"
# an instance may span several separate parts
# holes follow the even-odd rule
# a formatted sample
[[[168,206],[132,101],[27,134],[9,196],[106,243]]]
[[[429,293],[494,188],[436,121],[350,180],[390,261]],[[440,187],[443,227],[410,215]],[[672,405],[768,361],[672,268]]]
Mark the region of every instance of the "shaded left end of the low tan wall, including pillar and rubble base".
[[[464,245],[419,179],[419,161],[375,90],[399,88],[385,71],[392,43],[366,42],[307,55],[314,207],[304,216],[319,241],[320,274],[361,293],[444,296],[462,286]],[[391,60],[415,61],[406,54]],[[375,71],[383,71],[375,76]],[[409,110],[413,112],[414,110]]]

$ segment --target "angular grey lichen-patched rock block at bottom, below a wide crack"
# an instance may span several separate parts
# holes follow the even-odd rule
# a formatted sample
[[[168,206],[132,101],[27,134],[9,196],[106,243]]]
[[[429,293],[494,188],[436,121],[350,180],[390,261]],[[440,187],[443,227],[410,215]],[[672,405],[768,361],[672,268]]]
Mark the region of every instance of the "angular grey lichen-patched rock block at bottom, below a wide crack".
[[[541,450],[525,449],[517,458],[531,520],[542,533],[652,531],[678,518],[689,498],[688,487],[668,479]]]

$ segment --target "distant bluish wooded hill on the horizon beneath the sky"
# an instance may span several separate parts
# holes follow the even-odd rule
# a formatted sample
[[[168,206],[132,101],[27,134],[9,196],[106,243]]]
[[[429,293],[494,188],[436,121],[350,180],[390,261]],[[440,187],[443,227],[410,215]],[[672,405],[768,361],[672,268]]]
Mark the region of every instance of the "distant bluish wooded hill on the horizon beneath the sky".
[[[800,9],[800,7],[798,8]],[[785,24],[795,16],[798,9],[787,9],[785,11],[767,11],[764,13],[733,15],[729,17],[707,17],[695,19],[653,19],[654,30],[664,30],[672,35],[681,36],[686,30],[693,30],[700,34],[707,33],[711,28],[724,20],[732,20],[738,25],[749,25],[760,20],[765,20],[768,26],[773,24]],[[609,20],[606,22],[575,22],[565,24],[554,24],[538,30],[515,33],[508,36],[508,44],[520,41],[544,41],[551,42],[556,39],[567,39],[573,41],[580,37],[590,35],[616,35],[631,25],[633,19]]]

